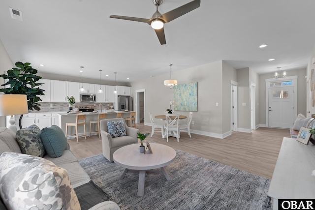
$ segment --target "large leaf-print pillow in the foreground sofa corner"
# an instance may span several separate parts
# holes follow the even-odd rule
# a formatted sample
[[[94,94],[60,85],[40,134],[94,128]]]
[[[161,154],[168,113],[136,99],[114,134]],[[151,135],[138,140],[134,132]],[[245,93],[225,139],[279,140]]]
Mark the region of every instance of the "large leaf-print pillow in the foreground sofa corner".
[[[0,156],[0,195],[10,210],[81,209],[67,171],[29,154]]]

